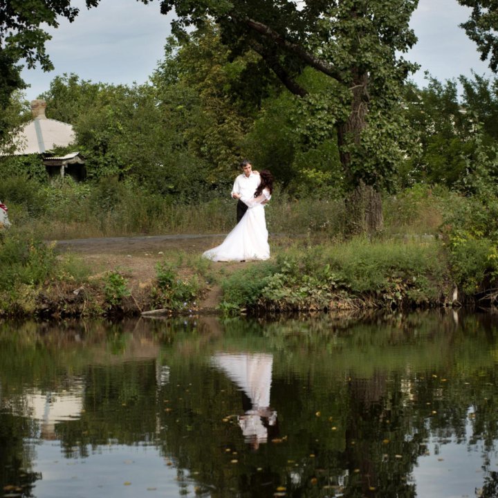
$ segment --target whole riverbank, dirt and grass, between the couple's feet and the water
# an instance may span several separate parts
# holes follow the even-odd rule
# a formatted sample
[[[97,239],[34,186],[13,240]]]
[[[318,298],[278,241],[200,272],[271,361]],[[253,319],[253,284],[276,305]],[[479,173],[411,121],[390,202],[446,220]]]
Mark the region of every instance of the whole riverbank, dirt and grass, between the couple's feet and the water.
[[[455,293],[445,247],[432,237],[347,243],[273,237],[270,261],[201,259],[205,248],[222,239],[80,239],[51,243],[46,250],[32,243],[24,270],[45,268],[46,275],[39,282],[18,279],[1,292],[0,313],[57,320],[154,310],[166,315],[396,310],[469,301]]]

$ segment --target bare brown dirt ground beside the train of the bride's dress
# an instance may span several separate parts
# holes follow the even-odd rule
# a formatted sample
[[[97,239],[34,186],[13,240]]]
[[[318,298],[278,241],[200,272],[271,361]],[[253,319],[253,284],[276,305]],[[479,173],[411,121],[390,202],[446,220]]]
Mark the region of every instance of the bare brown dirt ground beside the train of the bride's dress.
[[[108,237],[105,239],[73,239],[55,241],[60,255],[73,254],[91,268],[92,277],[111,270],[119,270],[129,280],[132,293],[140,293],[151,286],[156,277],[156,264],[174,260],[179,255],[197,257],[205,250],[217,246],[225,234],[213,235],[158,235],[149,237]],[[230,273],[243,264],[216,263],[214,273],[221,268]],[[211,284],[199,303],[199,310],[215,311],[221,299],[221,288]]]

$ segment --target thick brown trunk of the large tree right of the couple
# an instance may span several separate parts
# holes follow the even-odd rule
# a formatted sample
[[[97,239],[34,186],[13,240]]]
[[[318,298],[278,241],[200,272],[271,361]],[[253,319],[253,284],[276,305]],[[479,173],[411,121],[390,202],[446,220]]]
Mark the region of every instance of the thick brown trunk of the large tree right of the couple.
[[[338,124],[338,145],[340,162],[346,174],[347,183],[353,186],[353,191],[345,199],[347,208],[346,233],[375,234],[382,230],[382,198],[380,193],[371,185],[366,185],[355,177],[351,168],[351,145],[360,145],[362,130],[367,126],[368,112],[368,75],[357,75],[351,92],[351,114],[349,118]]]

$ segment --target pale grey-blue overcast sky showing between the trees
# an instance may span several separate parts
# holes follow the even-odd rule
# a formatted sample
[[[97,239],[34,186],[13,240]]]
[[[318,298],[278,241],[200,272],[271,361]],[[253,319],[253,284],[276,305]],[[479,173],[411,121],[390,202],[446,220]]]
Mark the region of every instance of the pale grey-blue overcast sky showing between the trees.
[[[76,0],[80,15],[71,24],[62,19],[47,51],[55,71],[24,69],[30,88],[28,100],[48,90],[55,75],[76,73],[84,80],[113,84],[144,83],[163,58],[165,39],[169,35],[170,16],[160,15],[159,2],[148,5],[136,0],[101,0],[98,8],[86,10],[84,0]],[[479,53],[459,28],[468,19],[470,9],[457,0],[420,0],[412,17],[418,43],[405,57],[421,64],[413,76],[423,86],[423,73],[429,71],[439,80],[491,73]]]

